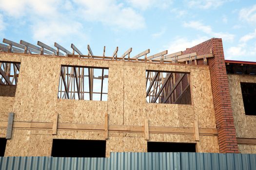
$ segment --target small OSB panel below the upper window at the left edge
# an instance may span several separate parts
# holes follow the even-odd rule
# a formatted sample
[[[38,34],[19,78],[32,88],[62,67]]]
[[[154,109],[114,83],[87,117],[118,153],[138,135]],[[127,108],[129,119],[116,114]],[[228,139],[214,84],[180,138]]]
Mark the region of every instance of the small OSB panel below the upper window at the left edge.
[[[12,112],[14,97],[0,96],[0,120],[8,121],[9,113]]]

